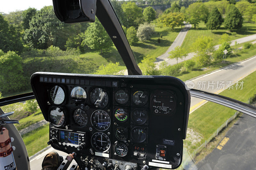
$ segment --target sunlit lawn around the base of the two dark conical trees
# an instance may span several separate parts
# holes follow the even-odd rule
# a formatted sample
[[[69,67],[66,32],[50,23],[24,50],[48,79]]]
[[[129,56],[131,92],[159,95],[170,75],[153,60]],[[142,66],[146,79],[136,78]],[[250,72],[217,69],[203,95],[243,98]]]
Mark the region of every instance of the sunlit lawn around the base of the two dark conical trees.
[[[254,23],[244,23],[243,27],[240,30],[234,30],[233,32],[236,32],[236,35],[232,35],[229,30],[225,29],[224,26],[220,27],[218,30],[208,30],[204,24],[204,22],[199,23],[199,27],[194,28],[193,26],[188,31],[188,34],[186,35],[185,40],[183,41],[181,47],[191,51],[189,48],[192,45],[192,43],[195,41],[195,39],[198,36],[205,35],[210,36],[213,38],[213,43],[215,45],[218,44],[220,37],[222,34],[228,34],[231,40],[235,40],[238,38],[242,38],[248,35],[256,34],[256,27]]]

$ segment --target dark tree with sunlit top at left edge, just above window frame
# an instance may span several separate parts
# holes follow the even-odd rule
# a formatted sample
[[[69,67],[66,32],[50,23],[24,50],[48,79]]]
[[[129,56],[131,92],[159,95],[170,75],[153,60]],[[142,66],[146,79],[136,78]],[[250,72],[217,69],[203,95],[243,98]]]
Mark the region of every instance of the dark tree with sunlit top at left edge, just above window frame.
[[[0,50],[0,91],[8,93],[24,88],[21,58],[16,52]]]

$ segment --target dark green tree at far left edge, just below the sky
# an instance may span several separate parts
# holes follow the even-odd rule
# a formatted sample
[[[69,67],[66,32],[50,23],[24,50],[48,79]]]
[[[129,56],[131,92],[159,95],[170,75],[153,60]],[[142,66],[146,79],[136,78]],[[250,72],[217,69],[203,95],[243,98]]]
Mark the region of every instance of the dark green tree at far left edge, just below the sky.
[[[21,52],[23,49],[22,42],[18,37],[15,28],[0,14],[0,49],[4,52],[9,50]]]

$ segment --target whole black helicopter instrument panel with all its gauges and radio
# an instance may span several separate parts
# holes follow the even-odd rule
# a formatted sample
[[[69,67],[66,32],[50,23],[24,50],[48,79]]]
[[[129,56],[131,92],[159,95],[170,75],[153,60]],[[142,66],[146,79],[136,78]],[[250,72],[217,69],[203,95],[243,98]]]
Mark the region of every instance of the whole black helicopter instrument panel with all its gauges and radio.
[[[190,94],[179,79],[38,72],[31,86],[48,143],[80,169],[180,166]]]

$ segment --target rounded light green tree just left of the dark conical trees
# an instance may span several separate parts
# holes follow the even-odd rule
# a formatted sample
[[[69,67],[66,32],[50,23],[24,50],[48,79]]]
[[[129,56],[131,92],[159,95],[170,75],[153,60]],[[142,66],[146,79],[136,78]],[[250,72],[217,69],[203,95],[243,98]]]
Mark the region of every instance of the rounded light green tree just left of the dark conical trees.
[[[196,28],[200,21],[204,21],[205,23],[207,22],[208,9],[202,2],[190,4],[186,9],[185,17],[186,21],[193,24]]]

